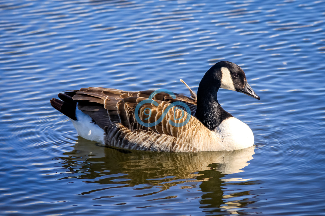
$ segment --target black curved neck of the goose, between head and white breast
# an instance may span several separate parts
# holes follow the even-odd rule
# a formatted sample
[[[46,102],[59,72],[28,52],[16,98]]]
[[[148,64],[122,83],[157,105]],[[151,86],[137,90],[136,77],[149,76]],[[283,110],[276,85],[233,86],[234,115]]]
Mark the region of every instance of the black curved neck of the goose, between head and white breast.
[[[217,92],[220,87],[219,83],[215,82],[207,74],[202,78],[197,96],[197,107],[195,116],[204,124],[209,130],[215,130],[220,123],[232,115],[226,112],[217,100]]]

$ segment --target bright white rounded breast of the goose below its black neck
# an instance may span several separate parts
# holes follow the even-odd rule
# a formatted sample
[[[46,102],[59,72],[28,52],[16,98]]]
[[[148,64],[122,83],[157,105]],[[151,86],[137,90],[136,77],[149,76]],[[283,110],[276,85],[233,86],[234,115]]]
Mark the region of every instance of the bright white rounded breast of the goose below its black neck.
[[[247,148],[254,144],[252,130],[235,117],[223,120],[216,133],[222,138],[223,145],[232,150]]]

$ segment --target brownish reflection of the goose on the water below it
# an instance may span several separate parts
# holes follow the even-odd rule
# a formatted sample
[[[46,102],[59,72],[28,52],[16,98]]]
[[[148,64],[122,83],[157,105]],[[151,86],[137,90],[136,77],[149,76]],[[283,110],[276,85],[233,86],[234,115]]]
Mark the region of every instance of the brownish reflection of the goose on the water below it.
[[[145,188],[158,186],[160,191],[145,193],[148,196],[168,190],[184,182],[201,182],[198,185],[203,192],[201,208],[207,212],[236,212],[248,201],[227,202],[228,198],[239,194],[225,194],[228,181],[232,185],[248,184],[246,180],[227,179],[227,174],[242,172],[248,161],[253,159],[254,147],[232,152],[196,152],[196,153],[160,153],[145,151],[118,150],[79,138],[67,157],[59,157],[60,165],[67,175],[59,178],[77,178],[86,183],[104,185],[87,191],[81,188],[80,195],[91,194],[110,188],[125,188],[146,185]],[[226,182],[226,183],[225,183]],[[254,183],[252,183],[254,184]],[[241,192],[249,195],[249,191]],[[175,194],[177,195],[177,194]],[[240,201],[240,203],[239,203]]]

